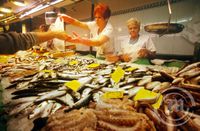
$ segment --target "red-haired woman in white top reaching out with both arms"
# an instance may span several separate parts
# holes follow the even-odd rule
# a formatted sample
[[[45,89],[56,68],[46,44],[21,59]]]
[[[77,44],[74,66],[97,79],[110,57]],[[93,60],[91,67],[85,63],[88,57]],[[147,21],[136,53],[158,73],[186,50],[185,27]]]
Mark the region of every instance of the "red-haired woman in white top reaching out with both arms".
[[[74,37],[69,39],[69,42],[96,46],[96,56],[105,58],[106,55],[115,53],[113,27],[109,22],[111,11],[107,5],[99,3],[95,6],[93,13],[95,21],[90,22],[81,22],[65,14],[60,14],[59,17],[66,23],[90,31],[90,39],[82,38],[77,33],[74,33]]]

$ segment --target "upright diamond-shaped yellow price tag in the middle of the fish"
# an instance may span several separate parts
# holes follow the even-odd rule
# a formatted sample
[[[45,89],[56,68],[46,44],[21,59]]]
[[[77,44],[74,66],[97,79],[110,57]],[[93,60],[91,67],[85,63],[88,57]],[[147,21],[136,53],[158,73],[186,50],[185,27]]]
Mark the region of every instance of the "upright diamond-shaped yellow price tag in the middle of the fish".
[[[111,74],[111,78],[115,83],[118,83],[124,77],[124,70],[118,66],[117,69]]]

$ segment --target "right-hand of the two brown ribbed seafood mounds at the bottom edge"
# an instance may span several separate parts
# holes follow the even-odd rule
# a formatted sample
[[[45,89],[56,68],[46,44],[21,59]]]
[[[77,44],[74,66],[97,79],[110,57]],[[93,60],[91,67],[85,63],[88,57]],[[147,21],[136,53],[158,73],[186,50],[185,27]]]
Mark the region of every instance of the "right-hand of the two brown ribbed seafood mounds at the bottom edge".
[[[100,131],[155,131],[152,121],[142,113],[123,109],[94,110]]]

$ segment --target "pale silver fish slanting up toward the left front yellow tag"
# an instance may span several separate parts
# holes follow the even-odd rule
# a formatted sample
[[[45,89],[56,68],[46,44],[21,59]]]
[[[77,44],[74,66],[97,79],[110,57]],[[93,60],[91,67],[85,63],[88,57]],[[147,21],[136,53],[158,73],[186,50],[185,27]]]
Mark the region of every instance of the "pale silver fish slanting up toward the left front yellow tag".
[[[62,96],[64,94],[66,94],[66,90],[53,90],[53,91],[50,91],[49,93],[47,93],[43,96],[40,96],[34,102],[41,102],[41,101],[44,101],[44,100],[50,100],[50,99],[53,99],[55,97]]]

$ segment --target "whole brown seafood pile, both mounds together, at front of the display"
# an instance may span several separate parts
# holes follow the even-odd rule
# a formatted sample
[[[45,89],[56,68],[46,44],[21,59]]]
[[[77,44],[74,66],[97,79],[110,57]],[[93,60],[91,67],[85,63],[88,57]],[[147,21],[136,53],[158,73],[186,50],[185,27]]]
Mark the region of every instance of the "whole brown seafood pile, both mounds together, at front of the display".
[[[156,130],[153,122],[145,114],[137,113],[130,107],[131,103],[127,100],[114,99],[104,101],[103,105],[102,102],[98,103],[94,108],[81,108],[68,113],[59,111],[50,116],[43,131]]]

